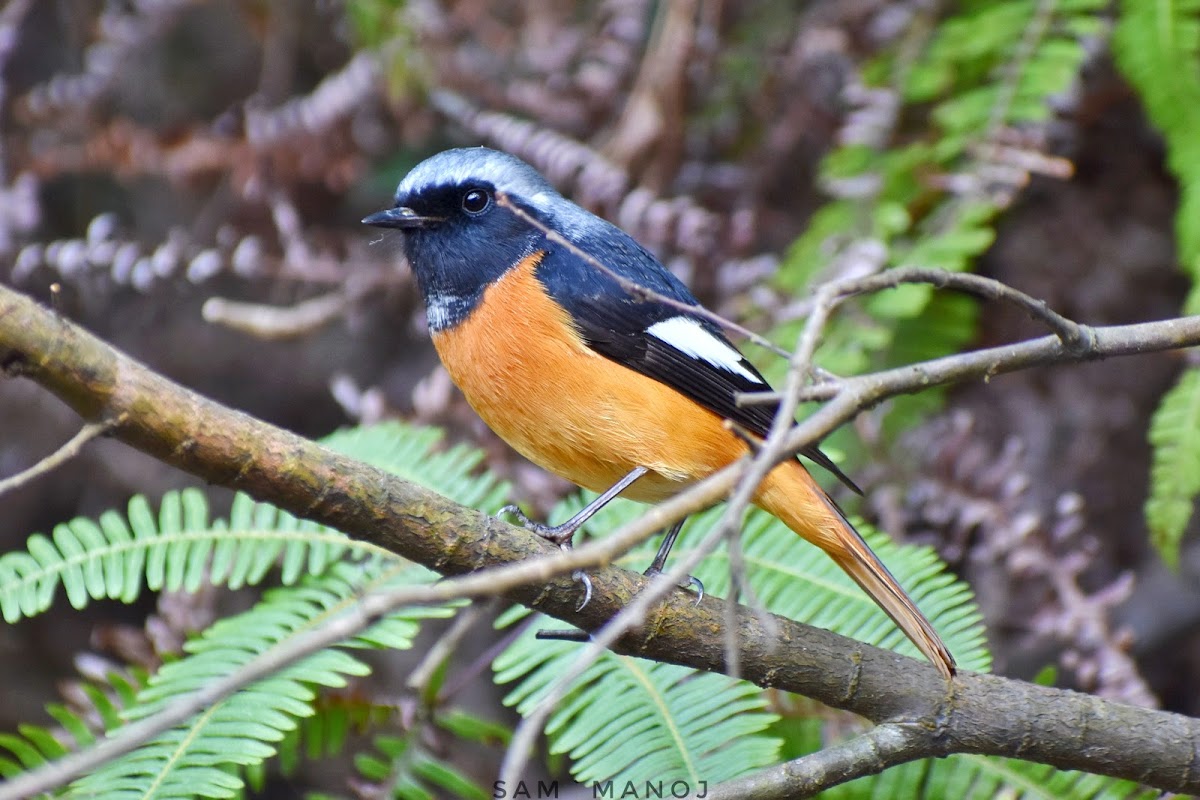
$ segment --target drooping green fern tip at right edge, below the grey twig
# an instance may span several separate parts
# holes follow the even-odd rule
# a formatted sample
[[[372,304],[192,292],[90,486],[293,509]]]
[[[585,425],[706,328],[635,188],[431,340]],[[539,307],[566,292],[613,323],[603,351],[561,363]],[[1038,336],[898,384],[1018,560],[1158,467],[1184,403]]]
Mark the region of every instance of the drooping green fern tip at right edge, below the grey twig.
[[[1200,493],[1200,369],[1192,368],[1163,396],[1150,422],[1154,450],[1146,524],[1159,555],[1180,560],[1180,541]]]

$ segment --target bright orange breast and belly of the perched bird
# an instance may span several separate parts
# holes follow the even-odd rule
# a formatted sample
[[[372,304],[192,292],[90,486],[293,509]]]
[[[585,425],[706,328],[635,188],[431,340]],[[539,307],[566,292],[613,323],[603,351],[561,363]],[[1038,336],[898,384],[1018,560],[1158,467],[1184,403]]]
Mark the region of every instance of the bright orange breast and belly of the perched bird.
[[[433,335],[450,377],[517,452],[602,492],[662,500],[742,456],[721,419],[679,392],[598,355],[534,273],[541,253],[488,287],[463,323]]]

